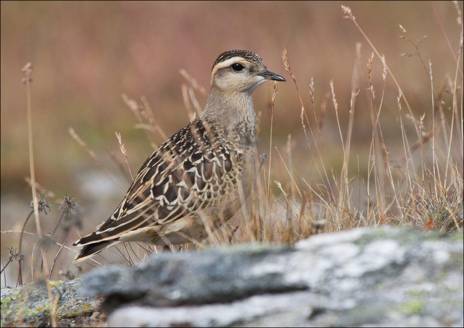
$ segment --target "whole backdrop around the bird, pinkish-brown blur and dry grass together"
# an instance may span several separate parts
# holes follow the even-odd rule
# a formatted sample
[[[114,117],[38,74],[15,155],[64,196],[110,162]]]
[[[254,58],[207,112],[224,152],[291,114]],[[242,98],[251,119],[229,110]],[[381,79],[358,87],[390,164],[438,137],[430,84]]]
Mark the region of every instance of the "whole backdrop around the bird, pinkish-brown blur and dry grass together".
[[[212,233],[210,244],[293,243],[379,224],[462,230],[462,10],[461,1],[2,1],[1,230],[20,231],[31,211],[27,62],[35,177],[52,206],[41,214],[42,231],[54,230],[59,204],[73,196],[78,219],[68,213],[68,228],[55,235],[69,246],[117,206],[131,181],[126,163],[137,172],[153,147],[201,110],[212,64],[231,49],[255,51],[287,82],[275,102],[271,83],[253,95],[258,154],[271,158],[249,213]],[[22,248],[25,283],[41,272],[37,250],[31,259],[32,221]],[[1,237],[6,264],[19,233]],[[50,264],[60,246],[47,247]],[[133,265],[160,251],[134,247],[96,259]],[[71,265],[73,254],[63,249],[52,279],[99,265]],[[2,286],[17,282],[17,262]]]

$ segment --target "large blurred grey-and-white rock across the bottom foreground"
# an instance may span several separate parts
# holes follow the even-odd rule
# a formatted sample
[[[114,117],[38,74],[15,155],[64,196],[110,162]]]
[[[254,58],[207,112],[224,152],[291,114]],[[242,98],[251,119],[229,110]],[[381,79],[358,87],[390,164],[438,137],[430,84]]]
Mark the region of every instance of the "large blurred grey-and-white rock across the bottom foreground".
[[[459,232],[354,229],[294,246],[163,252],[135,269],[92,270],[80,293],[90,308],[105,296],[108,327],[462,327],[463,250]],[[18,291],[2,289],[2,326],[19,313],[4,294]]]

